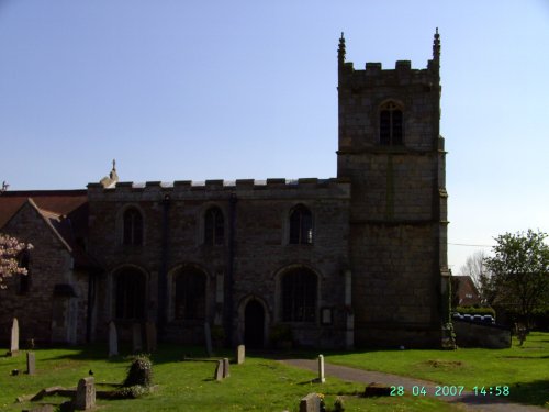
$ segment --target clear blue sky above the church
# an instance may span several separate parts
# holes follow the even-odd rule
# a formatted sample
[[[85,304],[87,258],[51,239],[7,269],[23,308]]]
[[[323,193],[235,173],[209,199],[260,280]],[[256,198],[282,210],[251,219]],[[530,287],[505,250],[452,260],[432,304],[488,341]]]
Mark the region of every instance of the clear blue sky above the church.
[[[459,272],[455,244],[549,232],[547,0],[0,0],[0,182],[334,177],[340,32],[425,68],[437,26]]]

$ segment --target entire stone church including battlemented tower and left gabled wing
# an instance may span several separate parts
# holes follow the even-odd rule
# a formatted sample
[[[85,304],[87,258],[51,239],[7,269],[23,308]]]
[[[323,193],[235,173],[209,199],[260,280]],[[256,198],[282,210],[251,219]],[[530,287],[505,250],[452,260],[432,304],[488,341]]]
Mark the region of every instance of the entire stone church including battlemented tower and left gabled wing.
[[[2,232],[35,245],[29,287],[0,292],[1,338],[16,315],[43,341],[122,338],[268,346],[438,346],[448,311],[440,44],[426,69],[355,69],[338,49],[337,178],[120,182],[5,192]],[[18,289],[19,288],[19,289]],[[14,290],[18,292],[13,292]]]

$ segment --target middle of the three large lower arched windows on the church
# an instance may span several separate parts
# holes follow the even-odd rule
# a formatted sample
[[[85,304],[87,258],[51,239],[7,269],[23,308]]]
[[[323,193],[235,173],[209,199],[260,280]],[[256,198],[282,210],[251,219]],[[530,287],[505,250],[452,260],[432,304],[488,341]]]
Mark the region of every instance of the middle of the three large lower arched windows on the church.
[[[204,272],[194,268],[182,269],[175,277],[175,319],[204,320],[205,319],[205,287]]]

